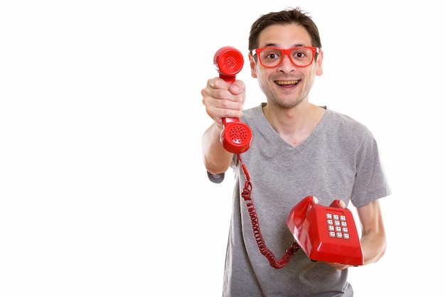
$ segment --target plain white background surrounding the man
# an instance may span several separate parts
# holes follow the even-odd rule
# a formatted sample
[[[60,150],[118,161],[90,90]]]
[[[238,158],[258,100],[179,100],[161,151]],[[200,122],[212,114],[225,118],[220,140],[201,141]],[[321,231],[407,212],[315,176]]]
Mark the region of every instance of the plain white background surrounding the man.
[[[251,23],[296,5],[324,50],[311,102],[371,129],[394,192],[387,254],[350,269],[356,296],[436,296],[445,23],[432,0],[2,2],[0,296],[220,296],[233,180],[205,174],[200,90],[218,48],[247,56]],[[245,107],[264,101],[248,67],[237,78]]]

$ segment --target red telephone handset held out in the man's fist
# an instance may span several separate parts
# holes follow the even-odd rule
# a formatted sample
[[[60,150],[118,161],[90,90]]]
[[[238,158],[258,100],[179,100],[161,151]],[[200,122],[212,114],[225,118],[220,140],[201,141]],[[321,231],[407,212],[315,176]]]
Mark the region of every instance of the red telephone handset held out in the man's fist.
[[[220,48],[213,57],[213,63],[226,82],[235,82],[235,77],[241,71],[244,59],[236,48],[225,46]],[[220,141],[230,153],[244,153],[252,144],[252,131],[247,124],[236,118],[224,118],[224,129]]]

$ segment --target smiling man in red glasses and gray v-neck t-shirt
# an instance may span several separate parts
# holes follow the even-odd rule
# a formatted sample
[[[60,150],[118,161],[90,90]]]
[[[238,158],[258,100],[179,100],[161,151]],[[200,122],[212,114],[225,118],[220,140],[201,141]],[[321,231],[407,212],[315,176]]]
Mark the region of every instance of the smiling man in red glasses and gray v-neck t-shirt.
[[[251,75],[267,102],[243,110],[246,87],[240,80],[230,84],[215,77],[201,91],[215,121],[202,141],[209,178],[219,182],[229,167],[236,175],[223,296],[353,296],[349,265],[311,261],[301,249],[284,267],[269,265],[242,198],[242,165],[250,173],[262,238],[277,259],[294,242],[286,227],[289,211],[313,195],[321,205],[339,199],[357,207],[363,264],[370,264],[385,253],[378,199],[390,195],[375,139],[358,121],[309,102],[323,72],[323,50],[318,28],[304,11],[260,16],[251,27],[249,51]],[[220,142],[223,118],[240,118],[252,129],[252,146],[241,155]]]

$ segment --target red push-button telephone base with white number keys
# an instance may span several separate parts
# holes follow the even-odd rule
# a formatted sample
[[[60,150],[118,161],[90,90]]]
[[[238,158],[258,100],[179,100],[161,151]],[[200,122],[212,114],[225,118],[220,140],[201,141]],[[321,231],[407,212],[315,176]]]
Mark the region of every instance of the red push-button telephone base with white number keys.
[[[363,253],[353,215],[334,200],[330,206],[307,196],[292,208],[286,225],[295,241],[313,261],[363,265]]]

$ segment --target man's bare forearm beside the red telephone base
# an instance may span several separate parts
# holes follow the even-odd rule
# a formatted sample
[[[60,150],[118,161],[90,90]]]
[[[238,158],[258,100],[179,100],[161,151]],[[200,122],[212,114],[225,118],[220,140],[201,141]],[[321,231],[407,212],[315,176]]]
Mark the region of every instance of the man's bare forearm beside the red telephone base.
[[[363,265],[377,262],[386,251],[386,234],[383,225],[380,203],[374,200],[358,207],[358,217],[362,227],[360,244],[363,252]],[[351,265],[327,263],[336,269],[345,269]]]

